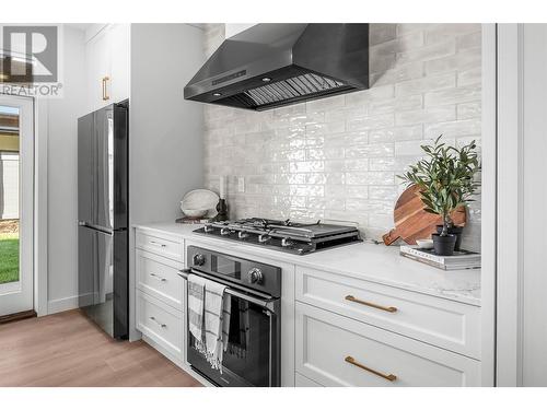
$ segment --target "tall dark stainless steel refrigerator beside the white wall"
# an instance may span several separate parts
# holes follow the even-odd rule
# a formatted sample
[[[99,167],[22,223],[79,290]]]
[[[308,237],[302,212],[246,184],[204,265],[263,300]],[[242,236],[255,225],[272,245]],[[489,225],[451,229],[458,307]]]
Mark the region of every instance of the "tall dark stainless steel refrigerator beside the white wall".
[[[85,314],[127,338],[128,104],[78,119],[78,288]]]

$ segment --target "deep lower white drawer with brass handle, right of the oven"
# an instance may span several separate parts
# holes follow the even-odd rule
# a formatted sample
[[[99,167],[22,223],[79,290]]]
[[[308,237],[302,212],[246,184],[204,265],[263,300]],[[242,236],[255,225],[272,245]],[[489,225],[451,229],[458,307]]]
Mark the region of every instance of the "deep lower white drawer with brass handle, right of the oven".
[[[374,326],[299,302],[295,324],[295,370],[324,386],[479,384],[480,362]]]

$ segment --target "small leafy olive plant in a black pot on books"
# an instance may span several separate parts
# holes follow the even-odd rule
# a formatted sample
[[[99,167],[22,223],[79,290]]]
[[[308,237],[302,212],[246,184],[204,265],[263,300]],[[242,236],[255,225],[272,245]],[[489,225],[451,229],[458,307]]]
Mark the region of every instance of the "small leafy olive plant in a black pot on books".
[[[398,177],[408,186],[417,185],[424,210],[441,215],[443,225],[432,234],[433,247],[438,255],[452,255],[456,244],[451,213],[462,206],[474,201],[473,196],[479,187],[475,175],[480,164],[475,141],[461,149],[441,142],[442,134],[431,145],[421,145],[424,157]]]

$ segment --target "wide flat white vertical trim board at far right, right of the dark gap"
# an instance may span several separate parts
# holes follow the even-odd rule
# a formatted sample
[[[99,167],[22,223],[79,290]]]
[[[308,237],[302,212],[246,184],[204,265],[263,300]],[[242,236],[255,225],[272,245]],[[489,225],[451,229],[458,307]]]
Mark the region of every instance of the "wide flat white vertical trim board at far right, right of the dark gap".
[[[522,25],[498,25],[497,385],[522,382]],[[515,246],[519,244],[519,246]]]

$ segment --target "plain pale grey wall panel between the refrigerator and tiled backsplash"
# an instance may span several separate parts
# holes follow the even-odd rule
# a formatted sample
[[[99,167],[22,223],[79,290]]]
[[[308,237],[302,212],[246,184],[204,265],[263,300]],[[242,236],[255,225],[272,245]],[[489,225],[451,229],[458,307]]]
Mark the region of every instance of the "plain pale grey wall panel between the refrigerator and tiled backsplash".
[[[130,224],[174,221],[187,191],[202,186],[202,106],[183,90],[205,61],[202,32],[186,24],[131,25]],[[133,248],[133,233],[130,249]],[[130,288],[133,289],[133,254]],[[135,312],[132,294],[130,311]],[[136,337],[133,317],[131,338]]]

